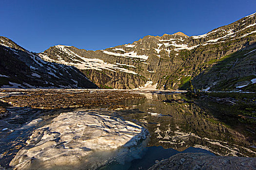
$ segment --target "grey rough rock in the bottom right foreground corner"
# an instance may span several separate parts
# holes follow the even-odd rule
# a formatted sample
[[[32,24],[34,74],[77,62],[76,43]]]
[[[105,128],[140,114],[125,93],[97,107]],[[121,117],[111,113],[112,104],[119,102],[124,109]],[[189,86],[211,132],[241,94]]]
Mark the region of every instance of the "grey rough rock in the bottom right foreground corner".
[[[178,153],[149,170],[256,170],[256,158]]]

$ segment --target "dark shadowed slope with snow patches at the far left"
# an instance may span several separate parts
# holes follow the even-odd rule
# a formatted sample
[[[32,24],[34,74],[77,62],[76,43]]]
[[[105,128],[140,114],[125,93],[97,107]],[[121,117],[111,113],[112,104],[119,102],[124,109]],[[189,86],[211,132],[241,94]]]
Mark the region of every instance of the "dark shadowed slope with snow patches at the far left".
[[[97,88],[79,69],[42,60],[0,36],[1,88]]]

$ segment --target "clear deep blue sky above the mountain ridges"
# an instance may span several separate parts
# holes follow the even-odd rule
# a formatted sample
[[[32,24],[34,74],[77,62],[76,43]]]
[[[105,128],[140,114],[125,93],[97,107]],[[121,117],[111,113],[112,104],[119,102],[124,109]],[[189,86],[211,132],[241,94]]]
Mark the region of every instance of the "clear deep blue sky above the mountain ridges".
[[[256,12],[256,0],[0,0],[0,36],[27,50],[99,50],[145,35],[207,33]]]

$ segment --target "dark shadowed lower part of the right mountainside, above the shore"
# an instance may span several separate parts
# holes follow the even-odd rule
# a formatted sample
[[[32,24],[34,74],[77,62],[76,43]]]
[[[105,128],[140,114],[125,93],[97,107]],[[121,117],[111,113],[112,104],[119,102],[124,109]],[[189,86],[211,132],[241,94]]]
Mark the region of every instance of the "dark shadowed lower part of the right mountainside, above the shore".
[[[236,86],[247,85],[256,78],[256,43],[220,59],[212,59],[205,65],[214,64],[208,70],[192,79],[197,89],[211,87],[210,90],[234,90]],[[242,90],[255,91],[256,85]]]

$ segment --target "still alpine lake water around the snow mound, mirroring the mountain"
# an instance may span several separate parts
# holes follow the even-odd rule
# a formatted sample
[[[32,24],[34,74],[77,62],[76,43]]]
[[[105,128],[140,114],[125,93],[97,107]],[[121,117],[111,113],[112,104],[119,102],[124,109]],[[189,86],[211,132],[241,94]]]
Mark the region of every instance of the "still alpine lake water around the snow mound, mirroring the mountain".
[[[162,159],[177,153],[208,153],[220,156],[256,157],[256,120],[232,116],[236,100],[219,98],[188,98],[183,93],[171,91],[114,91],[114,90],[56,90],[59,94],[103,95],[104,102],[96,99],[76,107],[43,108],[40,104],[19,104],[12,97],[29,100],[34,92],[26,90],[1,90],[1,107],[5,115],[0,119],[0,165],[11,169],[10,162],[21,148],[27,145],[33,131],[49,124],[65,112],[89,112],[124,119],[140,125],[149,132],[146,145],[139,152],[131,153],[121,162],[116,157],[98,167],[98,170],[147,170]],[[56,93],[55,90],[47,93]],[[112,94],[115,93],[115,94]],[[111,100],[122,93],[121,100]],[[89,95],[90,94],[90,95]],[[125,97],[135,96],[132,98]],[[41,100],[44,102],[49,98]],[[88,97],[89,96],[89,97]],[[108,97],[110,96],[110,97]],[[139,97],[138,97],[139,96]],[[71,96],[70,98],[76,98]],[[12,100],[12,101],[11,101]],[[40,100],[36,100],[35,102]],[[58,101],[53,100],[53,103]],[[63,101],[62,101],[63,102]],[[73,102],[74,103],[74,102]],[[92,103],[92,104],[90,104]],[[19,105],[18,105],[19,104]],[[74,104],[73,104],[74,105]],[[236,110],[235,110],[236,111]],[[40,119],[38,123],[30,123]],[[30,123],[30,126],[26,126]],[[21,128],[26,127],[26,128]],[[102,151],[104,152],[104,151]]]

